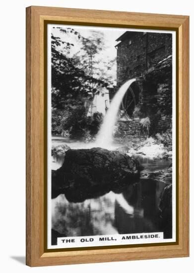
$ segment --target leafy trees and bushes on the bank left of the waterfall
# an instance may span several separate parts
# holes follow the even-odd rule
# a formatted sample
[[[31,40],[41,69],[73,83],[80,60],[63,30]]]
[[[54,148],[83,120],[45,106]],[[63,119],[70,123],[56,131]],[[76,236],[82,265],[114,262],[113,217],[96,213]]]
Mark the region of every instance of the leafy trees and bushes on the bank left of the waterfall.
[[[69,51],[74,44],[52,34],[52,131],[61,134],[66,130],[71,138],[83,138],[87,134],[95,136],[102,115],[98,113],[90,118],[87,110],[97,86],[108,84],[102,75],[99,76],[103,71],[96,58],[104,45],[102,37],[95,32],[91,36],[93,39],[84,38],[72,28],[58,29],[64,35],[75,35],[83,54],[79,58],[72,57]],[[107,65],[107,69],[109,67]]]

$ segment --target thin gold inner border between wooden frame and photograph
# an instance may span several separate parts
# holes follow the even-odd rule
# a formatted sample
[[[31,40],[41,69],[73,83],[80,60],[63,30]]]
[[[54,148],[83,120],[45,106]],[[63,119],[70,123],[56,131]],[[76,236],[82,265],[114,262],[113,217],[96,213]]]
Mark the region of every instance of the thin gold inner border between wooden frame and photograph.
[[[69,22],[60,20],[44,20],[44,251],[45,252],[61,252],[61,251],[77,251],[77,250],[92,250],[92,249],[118,249],[118,248],[134,248],[134,247],[147,247],[147,246],[169,246],[179,244],[179,213],[178,213],[178,202],[176,203],[176,242],[169,243],[147,243],[147,244],[131,244],[131,245],[113,245],[113,246],[94,246],[94,247],[77,247],[77,248],[47,248],[47,223],[48,223],[48,210],[47,210],[47,26],[48,24],[61,24],[61,25],[81,25],[81,26],[100,26],[100,27],[118,27],[118,28],[134,28],[134,29],[150,29],[150,30],[172,30],[176,32],[176,201],[179,198],[179,176],[178,176],[178,162],[179,162],[179,145],[178,145],[178,126],[179,126],[179,115],[178,115],[178,52],[179,52],[179,30],[172,27],[147,27],[147,26],[132,26],[132,25],[119,25],[119,24],[100,24],[100,23],[82,23],[82,22]]]

